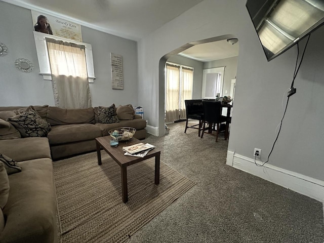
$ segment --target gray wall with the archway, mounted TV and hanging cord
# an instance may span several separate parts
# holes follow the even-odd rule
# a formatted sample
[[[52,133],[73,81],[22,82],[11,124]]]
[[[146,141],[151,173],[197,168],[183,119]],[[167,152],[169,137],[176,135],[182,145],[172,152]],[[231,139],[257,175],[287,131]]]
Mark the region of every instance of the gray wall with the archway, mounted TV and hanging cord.
[[[281,103],[290,88],[296,47],[267,62],[252,21],[241,0],[204,0],[138,42],[139,103],[146,103],[149,124],[164,132],[164,80],[159,60],[183,45],[214,36],[239,39],[235,106],[228,150],[253,158],[262,149],[266,161],[284,112]],[[230,18],[229,18],[230,16]],[[226,21],[224,21],[226,20]],[[221,23],[221,24],[220,24]],[[269,164],[324,180],[324,27],[311,36],[295,80],[297,93],[289,102],[282,130]],[[302,41],[300,49],[303,50]],[[203,141],[201,141],[203,142]]]

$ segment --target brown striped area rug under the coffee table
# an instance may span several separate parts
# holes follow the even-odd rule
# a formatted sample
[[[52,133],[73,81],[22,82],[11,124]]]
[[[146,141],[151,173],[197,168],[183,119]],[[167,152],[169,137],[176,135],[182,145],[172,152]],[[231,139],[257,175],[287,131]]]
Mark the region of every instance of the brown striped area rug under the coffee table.
[[[121,197],[120,167],[101,151],[53,162],[60,241],[124,242],[195,183],[160,163],[154,184],[154,158],[129,166],[128,198]]]

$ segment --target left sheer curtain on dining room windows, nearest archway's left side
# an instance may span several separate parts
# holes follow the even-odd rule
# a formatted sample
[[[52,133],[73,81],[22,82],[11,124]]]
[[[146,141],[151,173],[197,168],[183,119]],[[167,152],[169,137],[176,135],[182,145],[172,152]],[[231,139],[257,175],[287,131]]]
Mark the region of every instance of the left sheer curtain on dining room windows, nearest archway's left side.
[[[166,65],[166,121],[179,119],[180,67]]]

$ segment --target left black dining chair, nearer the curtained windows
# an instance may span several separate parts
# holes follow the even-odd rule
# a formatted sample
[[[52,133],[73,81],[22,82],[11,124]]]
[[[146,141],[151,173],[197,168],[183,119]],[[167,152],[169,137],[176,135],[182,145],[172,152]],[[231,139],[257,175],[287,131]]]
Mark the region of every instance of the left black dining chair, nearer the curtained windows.
[[[203,101],[185,100],[184,103],[186,106],[186,128],[184,129],[184,133],[187,132],[187,128],[198,129],[198,136],[200,137],[201,126],[203,124],[204,119]],[[199,120],[199,123],[188,126],[188,119]]]

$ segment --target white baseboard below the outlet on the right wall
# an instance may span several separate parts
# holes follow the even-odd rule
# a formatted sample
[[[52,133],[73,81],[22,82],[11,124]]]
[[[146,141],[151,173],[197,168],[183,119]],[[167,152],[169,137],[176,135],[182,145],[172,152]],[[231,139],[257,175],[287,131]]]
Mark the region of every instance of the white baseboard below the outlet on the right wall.
[[[230,161],[230,159],[232,160]],[[258,165],[262,165],[257,161]],[[227,151],[226,165],[261,177],[277,185],[286,187],[303,195],[324,202],[324,181],[296,172],[288,171],[270,164],[256,166],[254,159]]]

